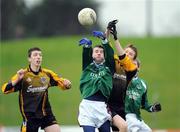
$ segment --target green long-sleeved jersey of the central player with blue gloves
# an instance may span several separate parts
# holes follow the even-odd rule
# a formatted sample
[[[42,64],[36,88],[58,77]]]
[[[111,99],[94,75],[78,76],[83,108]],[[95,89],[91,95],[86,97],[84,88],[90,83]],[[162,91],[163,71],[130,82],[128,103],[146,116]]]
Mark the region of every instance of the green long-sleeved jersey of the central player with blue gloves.
[[[114,52],[107,43],[103,44],[105,62],[96,64],[92,59],[92,48],[83,48],[83,72],[80,79],[80,92],[87,98],[100,91],[109,98],[112,90],[112,74],[114,70]]]

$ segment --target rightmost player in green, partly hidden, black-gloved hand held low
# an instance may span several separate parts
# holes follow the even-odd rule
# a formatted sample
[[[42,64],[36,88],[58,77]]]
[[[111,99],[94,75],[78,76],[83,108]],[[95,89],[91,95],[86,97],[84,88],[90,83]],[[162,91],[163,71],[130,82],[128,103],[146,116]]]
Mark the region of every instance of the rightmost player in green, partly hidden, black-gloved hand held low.
[[[134,63],[140,66],[138,60]],[[126,91],[125,112],[126,122],[128,124],[128,132],[151,132],[151,128],[142,120],[140,109],[148,112],[161,111],[160,103],[150,105],[147,98],[147,85],[145,81],[137,75],[130,82]]]

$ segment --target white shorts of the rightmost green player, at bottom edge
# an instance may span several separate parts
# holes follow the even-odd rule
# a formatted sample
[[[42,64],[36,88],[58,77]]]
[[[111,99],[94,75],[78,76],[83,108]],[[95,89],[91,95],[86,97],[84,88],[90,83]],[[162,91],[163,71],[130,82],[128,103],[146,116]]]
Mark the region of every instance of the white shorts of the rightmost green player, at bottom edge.
[[[152,132],[151,128],[143,121],[138,120],[136,114],[126,114],[128,132]]]

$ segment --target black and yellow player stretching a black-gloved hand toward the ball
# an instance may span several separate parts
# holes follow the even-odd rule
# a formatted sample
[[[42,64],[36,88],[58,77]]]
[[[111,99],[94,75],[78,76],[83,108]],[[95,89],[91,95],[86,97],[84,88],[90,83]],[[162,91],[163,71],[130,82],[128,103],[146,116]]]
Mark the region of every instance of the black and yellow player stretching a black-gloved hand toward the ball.
[[[113,88],[108,101],[112,113],[112,131],[127,132],[125,122],[125,94],[127,86],[137,72],[137,66],[133,60],[137,57],[137,49],[133,45],[122,48],[116,31],[117,20],[108,23],[108,29],[114,37],[117,55],[115,60],[115,73],[113,75]]]

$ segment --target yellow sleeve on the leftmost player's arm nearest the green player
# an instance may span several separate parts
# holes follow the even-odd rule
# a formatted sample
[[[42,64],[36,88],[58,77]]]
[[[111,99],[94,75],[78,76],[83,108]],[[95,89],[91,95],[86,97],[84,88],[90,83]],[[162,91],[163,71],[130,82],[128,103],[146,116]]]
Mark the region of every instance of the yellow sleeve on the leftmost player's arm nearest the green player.
[[[48,69],[42,69],[44,72],[47,72],[49,74],[51,74],[52,78],[58,83],[58,87],[60,87],[61,89],[65,90],[67,89],[65,86],[64,86],[64,78],[62,77],[59,77],[58,74],[54,73],[53,71],[51,70],[48,70]]]

